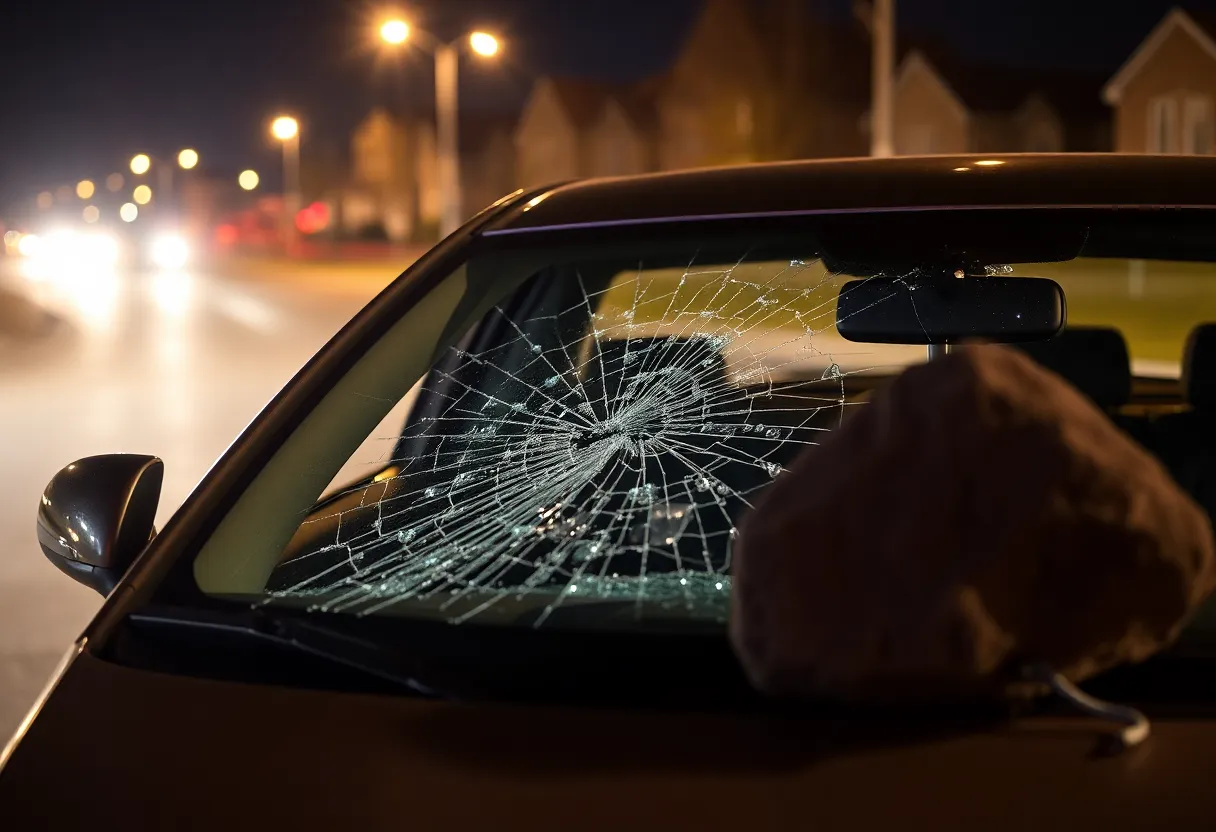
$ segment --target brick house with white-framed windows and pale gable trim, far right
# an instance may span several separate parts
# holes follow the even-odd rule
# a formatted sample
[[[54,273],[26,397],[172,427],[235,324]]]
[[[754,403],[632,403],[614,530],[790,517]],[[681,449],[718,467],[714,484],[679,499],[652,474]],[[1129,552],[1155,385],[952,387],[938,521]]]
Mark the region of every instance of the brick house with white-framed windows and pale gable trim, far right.
[[[1114,146],[1126,153],[1214,147],[1216,21],[1172,9],[1102,90],[1114,108]]]

